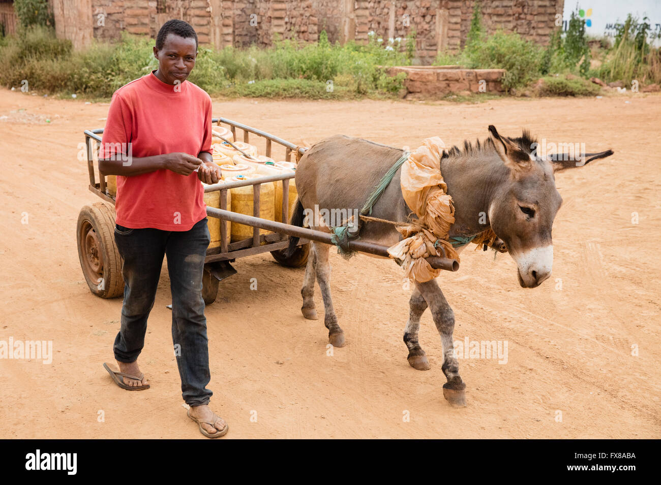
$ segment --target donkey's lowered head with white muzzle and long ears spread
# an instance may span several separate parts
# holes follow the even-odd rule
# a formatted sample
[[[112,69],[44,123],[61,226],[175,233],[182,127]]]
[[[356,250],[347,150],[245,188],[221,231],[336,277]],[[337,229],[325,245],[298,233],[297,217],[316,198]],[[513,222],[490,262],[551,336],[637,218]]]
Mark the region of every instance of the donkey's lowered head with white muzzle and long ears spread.
[[[551,275],[553,267],[551,228],[563,203],[553,173],[582,166],[613,152],[541,158],[537,156],[537,143],[527,132],[517,139],[501,137],[493,125],[489,126],[489,132],[507,169],[502,172],[507,175],[497,185],[488,209],[491,228],[516,261],[521,286],[535,288]],[[588,156],[592,158],[586,160]]]

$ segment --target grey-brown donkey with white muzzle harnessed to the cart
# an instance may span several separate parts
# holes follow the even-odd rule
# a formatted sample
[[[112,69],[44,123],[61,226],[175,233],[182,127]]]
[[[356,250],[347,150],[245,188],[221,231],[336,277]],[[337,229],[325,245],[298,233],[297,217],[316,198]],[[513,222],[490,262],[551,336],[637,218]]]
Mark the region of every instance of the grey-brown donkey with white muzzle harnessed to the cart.
[[[553,265],[551,227],[563,201],[555,187],[554,172],[582,166],[613,152],[581,154],[578,161],[568,154],[542,158],[537,155],[537,142],[527,131],[522,137],[512,139],[498,135],[492,125],[488,130],[490,137],[483,143],[477,141],[473,146],[465,141],[463,150],[453,146],[442,154],[440,170],[455,207],[455,223],[449,237],[476,236],[490,226],[516,261],[520,285],[535,288],[551,275]],[[328,232],[329,224],[324,223],[318,212],[346,209],[357,213],[373,187],[402,155],[403,150],[399,148],[344,135],[319,141],[301,157],[296,170],[299,199],[292,213],[292,224],[303,226],[304,214],[313,213],[315,217],[308,217],[307,224]],[[401,169],[373,206],[372,217],[395,222],[415,217],[403,198],[400,175]],[[401,235],[393,224],[369,220],[360,221],[360,238],[389,247],[399,242]],[[288,250],[293,251],[296,243],[297,238],[292,238]],[[458,251],[464,247],[459,247]],[[331,298],[330,248],[328,244],[311,243],[301,288],[301,311],[305,318],[317,319],[313,299],[316,278],[323,298],[329,341],[333,346],[342,347],[344,333],[338,325]],[[443,344],[442,370],[447,378],[443,385],[444,397],[455,406],[464,406],[466,386],[459,375],[453,347],[455,317],[436,280],[415,282],[409,306],[404,331],[408,364],[417,370],[430,368],[418,342],[420,317],[429,307]]]

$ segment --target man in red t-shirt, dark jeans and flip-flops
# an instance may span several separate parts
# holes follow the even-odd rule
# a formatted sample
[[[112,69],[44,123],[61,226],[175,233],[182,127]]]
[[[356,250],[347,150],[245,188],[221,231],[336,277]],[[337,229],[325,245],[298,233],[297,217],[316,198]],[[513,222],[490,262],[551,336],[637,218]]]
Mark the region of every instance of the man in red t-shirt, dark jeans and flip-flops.
[[[209,408],[212,391],[206,389],[211,376],[202,272],[210,236],[200,181],[220,179],[211,154],[212,103],[186,81],[198,54],[190,24],[165,22],[153,51],[159,69],[113,94],[99,152],[100,171],[118,176],[115,241],[126,283],[114,342],[119,370],[104,368],[122,389],[149,389],[137,357],[167,255],[182,396],[188,417],[215,438],[228,426]]]

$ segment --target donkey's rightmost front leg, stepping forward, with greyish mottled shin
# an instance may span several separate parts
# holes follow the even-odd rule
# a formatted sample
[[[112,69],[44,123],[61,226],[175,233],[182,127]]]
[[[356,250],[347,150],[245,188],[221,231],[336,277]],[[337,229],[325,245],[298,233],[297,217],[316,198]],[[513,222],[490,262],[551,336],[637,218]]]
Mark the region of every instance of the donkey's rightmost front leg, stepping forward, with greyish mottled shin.
[[[447,304],[446,297],[438,287],[436,280],[424,283],[416,282],[416,287],[426,300],[432,311],[436,329],[443,342],[443,373],[447,382],[443,385],[443,396],[454,406],[466,405],[466,385],[459,377],[459,363],[454,355],[454,312]]]

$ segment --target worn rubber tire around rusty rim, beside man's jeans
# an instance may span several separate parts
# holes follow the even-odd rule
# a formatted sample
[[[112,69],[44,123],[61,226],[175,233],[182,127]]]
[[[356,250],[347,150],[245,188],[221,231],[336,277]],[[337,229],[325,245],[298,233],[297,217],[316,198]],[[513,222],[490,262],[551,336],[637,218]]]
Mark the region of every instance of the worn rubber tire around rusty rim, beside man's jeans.
[[[103,289],[98,288],[98,281],[93,280],[85,271],[83,253],[84,242],[81,240],[83,224],[89,222],[94,228],[100,243],[103,256],[102,278]],[[124,277],[122,276],[122,259],[115,244],[115,210],[114,207],[102,202],[86,205],[78,215],[76,226],[76,240],[78,244],[78,259],[81,263],[85,282],[89,290],[101,298],[116,298],[124,294]]]

